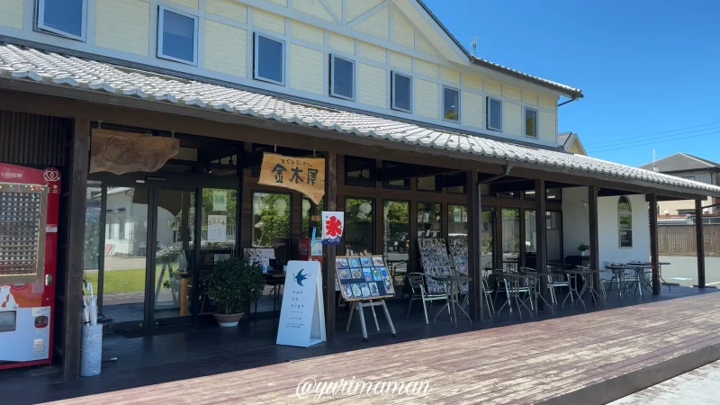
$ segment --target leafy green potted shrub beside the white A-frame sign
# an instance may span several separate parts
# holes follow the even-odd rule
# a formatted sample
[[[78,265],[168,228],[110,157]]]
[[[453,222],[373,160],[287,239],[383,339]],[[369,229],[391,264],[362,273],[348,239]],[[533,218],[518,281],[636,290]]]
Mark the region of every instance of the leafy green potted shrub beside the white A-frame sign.
[[[238,326],[249,302],[257,300],[265,289],[262,269],[247,257],[233,257],[215,263],[206,280],[208,296],[215,305],[213,313],[221,327]]]

